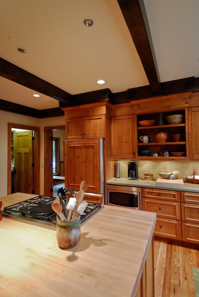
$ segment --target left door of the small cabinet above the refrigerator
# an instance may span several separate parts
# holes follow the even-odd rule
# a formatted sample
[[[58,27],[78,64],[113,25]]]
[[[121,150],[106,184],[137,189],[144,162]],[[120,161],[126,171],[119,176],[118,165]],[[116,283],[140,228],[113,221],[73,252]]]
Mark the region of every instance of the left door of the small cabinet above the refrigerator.
[[[84,136],[83,118],[66,119],[66,139],[83,139]]]

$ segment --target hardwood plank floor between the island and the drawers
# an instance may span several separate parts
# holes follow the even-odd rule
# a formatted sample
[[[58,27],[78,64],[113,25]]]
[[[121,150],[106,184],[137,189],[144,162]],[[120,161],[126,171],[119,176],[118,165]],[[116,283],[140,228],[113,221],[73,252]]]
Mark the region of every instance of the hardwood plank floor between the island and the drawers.
[[[199,268],[197,247],[154,238],[154,297],[196,297],[192,267]]]

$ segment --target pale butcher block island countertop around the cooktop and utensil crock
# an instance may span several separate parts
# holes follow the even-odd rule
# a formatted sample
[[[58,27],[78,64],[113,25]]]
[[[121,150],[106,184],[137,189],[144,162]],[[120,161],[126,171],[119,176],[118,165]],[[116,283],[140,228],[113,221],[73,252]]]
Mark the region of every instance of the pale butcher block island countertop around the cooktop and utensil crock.
[[[2,210],[34,196],[1,197]],[[105,205],[81,227],[79,244],[64,250],[56,229],[3,217],[0,296],[142,296],[140,278],[153,253],[155,222],[155,213]]]

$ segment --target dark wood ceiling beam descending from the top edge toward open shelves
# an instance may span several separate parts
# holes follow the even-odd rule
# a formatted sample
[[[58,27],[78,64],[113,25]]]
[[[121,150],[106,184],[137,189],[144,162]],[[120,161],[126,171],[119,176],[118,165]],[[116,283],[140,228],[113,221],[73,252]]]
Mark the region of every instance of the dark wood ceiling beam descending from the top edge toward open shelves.
[[[144,71],[154,93],[160,91],[160,78],[143,0],[117,0]]]

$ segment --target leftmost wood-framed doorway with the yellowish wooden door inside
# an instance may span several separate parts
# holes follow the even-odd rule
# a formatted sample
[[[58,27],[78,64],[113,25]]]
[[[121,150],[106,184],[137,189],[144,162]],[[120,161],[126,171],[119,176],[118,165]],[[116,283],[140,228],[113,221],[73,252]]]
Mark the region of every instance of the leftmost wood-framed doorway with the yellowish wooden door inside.
[[[7,160],[7,195],[14,192],[39,195],[40,128],[8,123]]]

